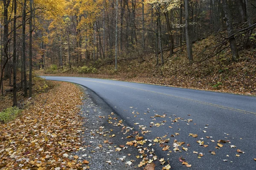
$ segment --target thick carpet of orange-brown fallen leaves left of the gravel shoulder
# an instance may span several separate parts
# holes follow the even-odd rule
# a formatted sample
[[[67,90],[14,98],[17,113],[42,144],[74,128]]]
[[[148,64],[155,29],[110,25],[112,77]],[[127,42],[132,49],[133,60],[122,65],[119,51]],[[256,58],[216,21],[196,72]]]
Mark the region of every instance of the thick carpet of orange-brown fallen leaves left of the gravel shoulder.
[[[83,163],[69,153],[81,145],[81,96],[79,87],[63,82],[32,98],[19,118],[0,124],[0,169],[79,169]]]

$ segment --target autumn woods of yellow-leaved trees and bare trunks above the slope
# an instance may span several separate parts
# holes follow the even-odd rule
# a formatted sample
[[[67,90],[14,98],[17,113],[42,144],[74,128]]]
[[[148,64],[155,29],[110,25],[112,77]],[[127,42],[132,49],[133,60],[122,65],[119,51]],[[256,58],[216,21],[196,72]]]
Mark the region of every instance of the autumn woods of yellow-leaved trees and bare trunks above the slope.
[[[212,34],[229,46],[231,61],[250,43],[256,27],[255,0],[1,0],[1,81],[9,79],[16,100],[17,69],[21,84],[32,95],[32,68],[44,69],[97,60],[115,61],[154,52],[156,65],[163,52],[187,46]],[[160,56],[159,56],[160,55]],[[13,76],[11,76],[13,74]],[[13,78],[13,80],[11,80]],[[0,86],[3,95],[3,86]]]

